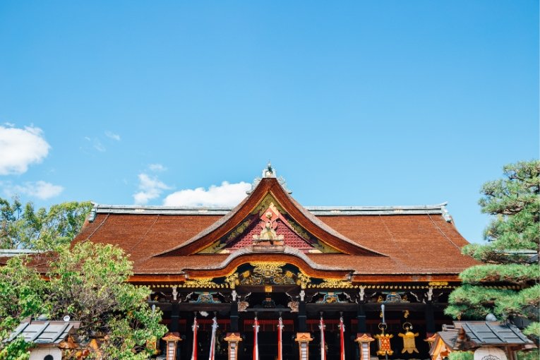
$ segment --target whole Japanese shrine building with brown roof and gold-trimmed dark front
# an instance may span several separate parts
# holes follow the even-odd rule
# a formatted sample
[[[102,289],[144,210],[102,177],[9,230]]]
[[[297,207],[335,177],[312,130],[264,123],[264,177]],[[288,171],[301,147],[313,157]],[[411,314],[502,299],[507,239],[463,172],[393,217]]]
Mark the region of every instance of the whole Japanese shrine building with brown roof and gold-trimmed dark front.
[[[270,164],[234,209],[95,205],[85,240],[129,254],[170,331],[162,354],[182,360],[321,359],[321,340],[328,360],[429,359],[476,264],[445,204],[304,207]]]

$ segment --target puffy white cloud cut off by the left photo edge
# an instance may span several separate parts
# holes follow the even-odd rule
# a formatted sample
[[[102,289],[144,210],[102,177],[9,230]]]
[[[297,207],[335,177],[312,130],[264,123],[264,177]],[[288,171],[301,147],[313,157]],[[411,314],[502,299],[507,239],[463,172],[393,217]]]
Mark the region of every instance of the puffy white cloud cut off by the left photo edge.
[[[0,125],[0,175],[25,173],[28,165],[42,162],[50,148],[40,128]]]

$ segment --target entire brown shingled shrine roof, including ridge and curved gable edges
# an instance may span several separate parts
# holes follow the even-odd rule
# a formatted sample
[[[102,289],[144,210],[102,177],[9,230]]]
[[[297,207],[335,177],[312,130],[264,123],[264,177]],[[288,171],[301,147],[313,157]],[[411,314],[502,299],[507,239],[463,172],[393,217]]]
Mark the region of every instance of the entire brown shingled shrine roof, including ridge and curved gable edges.
[[[313,234],[334,251],[300,254],[285,244],[279,254],[257,253],[246,246],[204,252],[219,239],[244,231],[243,223],[251,221],[246,227],[256,227],[251,224],[254,217],[259,221],[256,209],[263,203],[275,206],[272,211],[279,216],[282,212],[294,222],[289,227],[292,236],[303,231]],[[248,230],[242,236],[251,236]],[[313,271],[348,272],[357,281],[390,276],[404,281],[458,281],[459,272],[476,264],[461,254],[468,242],[457,231],[444,203],[302,207],[275,176],[259,179],[234,209],[95,205],[76,241],[87,239],[123,248],[133,260],[136,275],[184,275],[187,270],[203,274],[212,269],[217,276],[241,263],[279,258]]]

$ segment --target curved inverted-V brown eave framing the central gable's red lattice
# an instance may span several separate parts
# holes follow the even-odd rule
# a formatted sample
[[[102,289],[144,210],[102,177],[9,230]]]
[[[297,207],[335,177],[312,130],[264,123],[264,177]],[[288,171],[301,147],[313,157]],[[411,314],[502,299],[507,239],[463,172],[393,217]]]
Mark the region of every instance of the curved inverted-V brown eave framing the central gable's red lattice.
[[[238,226],[256,208],[267,193],[270,193],[280,203],[294,221],[338,251],[349,255],[387,256],[370,248],[359,246],[359,244],[356,244],[346,236],[330,228],[324,222],[318,220],[315,215],[302,208],[299,203],[296,203],[296,200],[284,191],[275,178],[262,179],[255,190],[237,205],[236,208],[229,212],[229,214],[184,242],[184,244],[158,253],[156,256],[190,255],[203,250],[203,248],[217,241],[217,239],[221,239],[222,236]]]

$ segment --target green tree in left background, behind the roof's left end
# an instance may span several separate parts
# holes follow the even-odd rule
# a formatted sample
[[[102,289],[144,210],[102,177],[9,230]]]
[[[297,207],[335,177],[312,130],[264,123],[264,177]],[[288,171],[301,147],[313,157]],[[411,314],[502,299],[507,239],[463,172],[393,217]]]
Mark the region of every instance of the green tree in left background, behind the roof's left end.
[[[69,244],[91,209],[90,201],[73,201],[36,211],[32,203],[23,205],[17,198],[10,203],[0,198],[0,248],[47,251]]]

